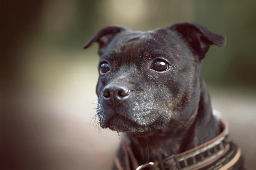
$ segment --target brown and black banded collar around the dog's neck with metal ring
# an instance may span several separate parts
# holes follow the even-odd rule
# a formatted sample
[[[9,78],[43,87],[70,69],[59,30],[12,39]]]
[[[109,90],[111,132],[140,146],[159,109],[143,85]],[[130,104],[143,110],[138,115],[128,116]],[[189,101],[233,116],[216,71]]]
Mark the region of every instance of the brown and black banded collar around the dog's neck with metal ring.
[[[119,158],[115,159],[115,165],[119,170],[142,170],[147,169],[209,169],[209,170],[224,170],[237,168],[243,164],[241,150],[237,146],[228,141],[228,124],[223,119],[220,119],[222,133],[214,139],[199,145],[185,152],[174,154],[157,162],[148,162],[142,165],[138,164],[132,149],[121,140],[121,144],[125,151],[125,159],[121,165]],[[125,166],[124,166],[125,165]],[[132,167],[132,168],[131,168]]]

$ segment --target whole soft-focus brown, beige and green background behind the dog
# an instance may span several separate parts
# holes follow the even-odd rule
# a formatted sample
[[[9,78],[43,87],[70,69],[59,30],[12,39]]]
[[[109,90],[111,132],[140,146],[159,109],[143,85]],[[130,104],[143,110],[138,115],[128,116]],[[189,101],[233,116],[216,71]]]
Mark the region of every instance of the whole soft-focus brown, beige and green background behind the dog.
[[[1,169],[109,169],[118,134],[98,132],[99,29],[195,21],[225,35],[201,75],[230,137],[255,166],[255,1],[1,1]],[[92,122],[91,122],[92,120]],[[97,121],[97,119],[96,119]],[[91,122],[91,123],[90,123]]]

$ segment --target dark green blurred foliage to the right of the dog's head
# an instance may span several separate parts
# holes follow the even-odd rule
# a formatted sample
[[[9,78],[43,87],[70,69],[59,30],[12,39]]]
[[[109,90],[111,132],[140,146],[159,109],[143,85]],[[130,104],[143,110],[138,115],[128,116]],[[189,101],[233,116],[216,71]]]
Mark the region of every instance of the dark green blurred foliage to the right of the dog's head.
[[[203,61],[201,75],[206,82],[255,88],[255,2],[193,2],[195,21],[227,38],[225,48],[211,47]]]

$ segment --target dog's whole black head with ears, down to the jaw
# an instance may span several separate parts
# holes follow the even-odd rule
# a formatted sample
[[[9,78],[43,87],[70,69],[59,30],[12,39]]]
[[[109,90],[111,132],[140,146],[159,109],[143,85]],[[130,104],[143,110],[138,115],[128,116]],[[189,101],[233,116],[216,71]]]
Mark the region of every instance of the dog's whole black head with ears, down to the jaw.
[[[97,114],[102,128],[150,133],[193,119],[199,101],[200,61],[225,38],[196,23],[134,32],[110,26],[84,48],[99,42]]]

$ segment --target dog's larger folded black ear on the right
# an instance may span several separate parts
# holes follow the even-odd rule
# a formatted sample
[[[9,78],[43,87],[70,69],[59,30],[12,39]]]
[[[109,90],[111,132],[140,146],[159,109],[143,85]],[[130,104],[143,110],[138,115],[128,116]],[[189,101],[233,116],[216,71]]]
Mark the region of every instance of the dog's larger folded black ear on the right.
[[[226,38],[208,30],[195,22],[182,22],[168,26],[169,29],[183,35],[190,46],[198,53],[200,60],[205,57],[210,45],[223,47],[226,45]]]

